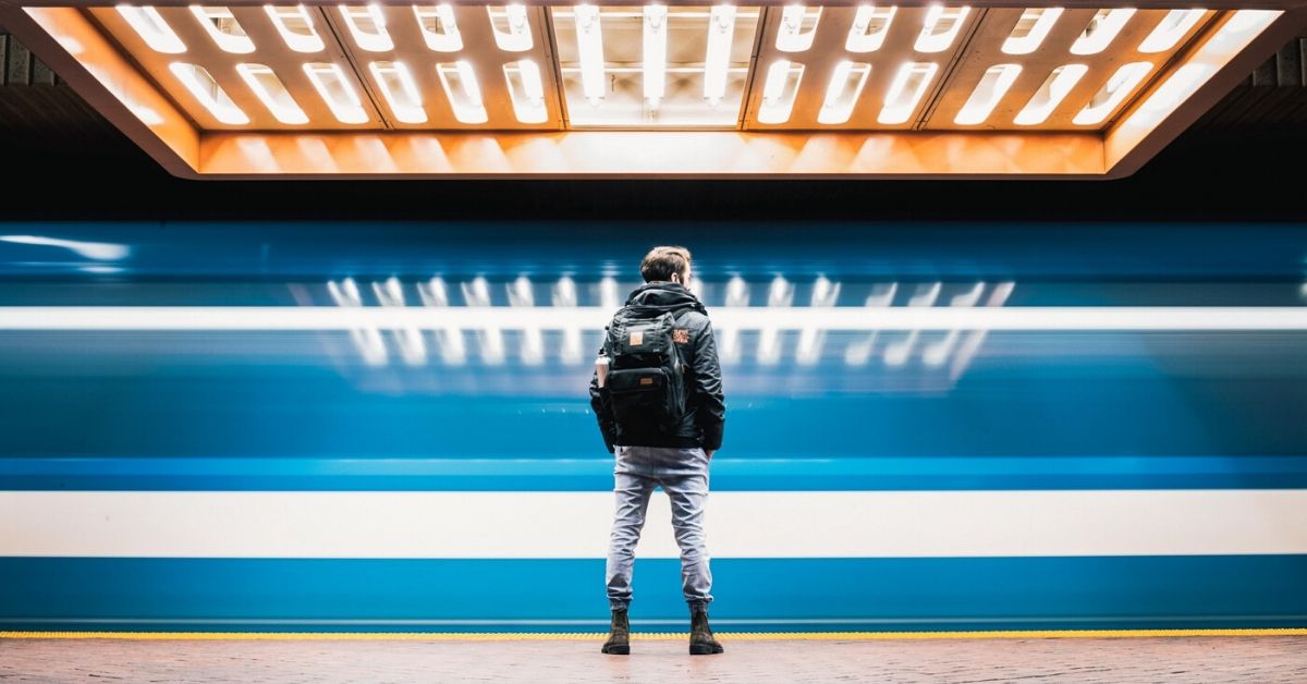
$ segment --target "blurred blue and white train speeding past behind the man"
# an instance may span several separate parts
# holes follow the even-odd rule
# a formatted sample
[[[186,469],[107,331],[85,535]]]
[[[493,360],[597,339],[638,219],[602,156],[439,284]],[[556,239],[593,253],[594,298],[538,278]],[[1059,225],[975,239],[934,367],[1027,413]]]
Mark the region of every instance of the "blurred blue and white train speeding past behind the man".
[[[0,629],[604,630],[656,243],[720,630],[1307,625],[1307,225],[242,222],[0,225]]]

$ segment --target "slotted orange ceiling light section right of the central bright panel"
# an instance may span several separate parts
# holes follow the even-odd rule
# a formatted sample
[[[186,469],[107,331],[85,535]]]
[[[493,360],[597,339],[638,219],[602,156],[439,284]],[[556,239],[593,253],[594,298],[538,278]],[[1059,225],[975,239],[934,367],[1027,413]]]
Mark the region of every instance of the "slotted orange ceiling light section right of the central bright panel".
[[[819,21],[813,21],[818,14],[812,10],[802,14],[797,5],[767,8],[759,41],[759,71],[754,76],[745,126],[753,129],[1102,129],[1217,14],[1200,10],[1195,20],[1188,12],[1167,9],[1114,16],[1100,14],[1098,9],[963,9],[963,5],[826,7]],[[806,17],[801,26],[799,17]],[[1111,41],[1102,41],[1106,34],[1098,33],[1099,27],[1111,33]],[[795,35],[808,35],[813,41],[806,50],[796,50]],[[1150,35],[1155,38],[1145,46]],[[1093,54],[1072,54],[1073,44],[1084,51],[1091,42],[1104,46]],[[1157,52],[1141,51],[1163,44],[1167,47]],[[778,60],[804,65],[802,81],[784,118],[775,115],[775,106],[766,101],[759,85],[765,82],[762,69]],[[847,82],[850,75],[842,64],[850,61],[867,63],[869,73],[846,119],[844,112],[833,116],[825,103],[831,89],[839,89],[836,81]],[[1098,120],[1100,110],[1095,110],[1095,116],[1081,116],[1082,123],[1076,123],[1082,109],[1102,99],[1100,92],[1116,68],[1134,61],[1148,61],[1155,68],[1120,98],[1106,119]],[[1000,65],[1009,65],[1002,69],[1001,78],[995,69]],[[1060,67],[1069,69],[1063,69],[1068,77],[1056,81],[1057,105],[1051,111],[1039,111],[1036,124],[1018,123],[1019,112],[1033,99],[1038,99],[1034,109],[1047,109],[1050,93],[1047,89],[1040,93],[1040,88]],[[1069,77],[1081,69],[1084,75]],[[907,80],[912,86],[910,93],[893,92],[902,73],[912,76]],[[1001,93],[995,90],[996,85],[1001,86]],[[908,97],[918,94],[920,97]],[[894,102],[889,102],[891,95]],[[963,112],[968,102],[975,103]],[[987,111],[985,116],[979,118],[979,111]],[[840,119],[843,123],[836,123]],[[1034,119],[1036,116],[1027,114],[1023,122]],[[1087,120],[1095,123],[1084,123]]]

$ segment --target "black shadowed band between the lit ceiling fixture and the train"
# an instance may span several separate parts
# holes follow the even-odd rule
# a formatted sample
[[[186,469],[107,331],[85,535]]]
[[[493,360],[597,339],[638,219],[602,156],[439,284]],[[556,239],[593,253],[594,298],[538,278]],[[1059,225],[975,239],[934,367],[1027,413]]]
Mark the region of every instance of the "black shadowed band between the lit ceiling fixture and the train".
[[[0,220],[1304,221],[1307,38],[1120,180],[182,180],[0,33]]]

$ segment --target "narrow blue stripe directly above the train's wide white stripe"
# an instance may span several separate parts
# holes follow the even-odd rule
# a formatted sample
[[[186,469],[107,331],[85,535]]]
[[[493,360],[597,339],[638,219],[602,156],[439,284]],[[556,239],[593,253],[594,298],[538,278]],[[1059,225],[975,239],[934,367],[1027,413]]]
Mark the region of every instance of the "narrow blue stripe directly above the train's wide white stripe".
[[[610,489],[610,459],[0,458],[0,490]],[[910,456],[712,462],[714,490],[1285,489],[1307,456]]]

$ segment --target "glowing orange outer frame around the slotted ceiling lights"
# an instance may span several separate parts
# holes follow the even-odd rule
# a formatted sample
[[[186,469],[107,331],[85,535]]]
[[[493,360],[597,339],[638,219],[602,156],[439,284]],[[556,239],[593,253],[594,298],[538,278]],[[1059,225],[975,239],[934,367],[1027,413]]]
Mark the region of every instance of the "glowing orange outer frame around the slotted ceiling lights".
[[[186,7],[178,1],[152,4]],[[409,7],[412,3],[386,4]],[[630,5],[629,1],[600,4]],[[259,7],[261,3],[225,5]],[[779,3],[750,5],[778,8]],[[851,7],[853,3],[822,5]],[[921,5],[899,4],[904,8]],[[920,126],[915,129],[762,126],[720,131],[566,129],[559,128],[557,118],[565,114],[557,111],[562,103],[553,99],[550,128],[422,129],[408,126],[294,132],[197,126],[192,114],[183,111],[111,35],[106,35],[85,9],[90,7],[103,5],[0,0],[0,25],[170,173],[191,179],[1121,178],[1141,167],[1257,64],[1307,27],[1307,0],[1208,4],[1206,9],[1218,10],[1214,18],[1196,29],[1184,47],[1166,60],[1159,75],[1129,98],[1106,127],[1094,131],[925,129]],[[1053,4],[971,3],[970,7],[1010,9]],[[1106,9],[1112,5],[1077,1],[1057,7]],[[1132,3],[1132,7],[1170,9],[1175,4]],[[1276,13],[1235,14],[1246,9]],[[538,14],[544,17],[546,12]],[[1230,24],[1233,17],[1240,17],[1243,25],[1249,17],[1264,21],[1257,25],[1260,30],[1238,33]],[[765,22],[766,26],[772,24]],[[553,44],[548,50],[557,54]],[[951,115],[948,107],[955,110],[957,94],[941,90],[950,77],[957,80],[961,73],[962,69],[950,65],[937,76],[938,89],[929,98],[931,112],[923,110],[923,115],[940,111]],[[1188,76],[1197,76],[1201,85],[1188,97],[1176,98],[1176,85]],[[550,75],[549,82],[557,85],[557,72]],[[1030,88],[1029,84],[1023,86]],[[754,86],[753,94],[746,94],[750,111],[757,106],[754,94],[758,90],[759,86]],[[948,106],[941,109],[944,103]],[[499,115],[507,111],[503,102],[494,105]]]

